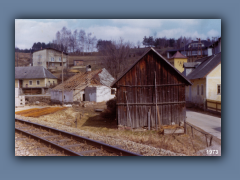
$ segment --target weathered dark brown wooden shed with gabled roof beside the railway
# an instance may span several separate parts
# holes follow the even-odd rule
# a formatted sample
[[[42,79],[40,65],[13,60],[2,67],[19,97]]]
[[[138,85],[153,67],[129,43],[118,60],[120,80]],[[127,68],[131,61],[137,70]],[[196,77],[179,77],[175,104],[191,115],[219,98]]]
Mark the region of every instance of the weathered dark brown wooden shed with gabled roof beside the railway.
[[[185,86],[191,85],[153,48],[116,79],[118,125],[139,128],[185,122]]]

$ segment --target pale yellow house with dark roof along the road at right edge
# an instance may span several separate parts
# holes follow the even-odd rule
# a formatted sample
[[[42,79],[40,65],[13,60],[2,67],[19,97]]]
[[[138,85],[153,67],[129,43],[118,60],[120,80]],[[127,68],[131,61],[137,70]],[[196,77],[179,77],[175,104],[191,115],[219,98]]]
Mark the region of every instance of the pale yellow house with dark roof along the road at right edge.
[[[205,109],[221,111],[221,52],[184,63],[184,68],[183,74],[193,83],[186,89],[186,101]]]

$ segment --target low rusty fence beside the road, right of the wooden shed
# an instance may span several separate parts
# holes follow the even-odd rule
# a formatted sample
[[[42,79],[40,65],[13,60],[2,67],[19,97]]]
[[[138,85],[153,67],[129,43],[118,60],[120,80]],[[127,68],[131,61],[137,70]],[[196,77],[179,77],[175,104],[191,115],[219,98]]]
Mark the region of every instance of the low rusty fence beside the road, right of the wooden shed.
[[[201,131],[200,129],[194,127],[193,125],[185,122],[186,124],[186,134],[192,136],[192,138],[199,138],[201,141],[206,142],[206,146],[212,146],[213,136],[206,132]]]

